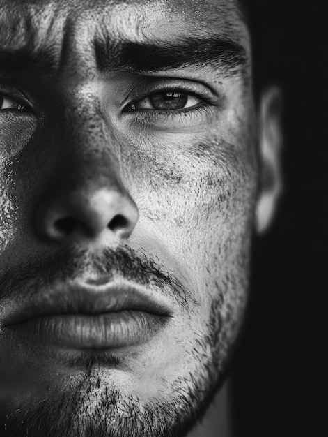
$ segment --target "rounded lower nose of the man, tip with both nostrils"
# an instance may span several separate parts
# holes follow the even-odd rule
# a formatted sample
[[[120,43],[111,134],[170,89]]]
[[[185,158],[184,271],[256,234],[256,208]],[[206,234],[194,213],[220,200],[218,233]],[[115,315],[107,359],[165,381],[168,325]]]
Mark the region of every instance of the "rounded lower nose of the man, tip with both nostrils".
[[[58,243],[126,239],[139,213],[130,195],[115,188],[81,188],[51,196],[36,216],[38,235]]]

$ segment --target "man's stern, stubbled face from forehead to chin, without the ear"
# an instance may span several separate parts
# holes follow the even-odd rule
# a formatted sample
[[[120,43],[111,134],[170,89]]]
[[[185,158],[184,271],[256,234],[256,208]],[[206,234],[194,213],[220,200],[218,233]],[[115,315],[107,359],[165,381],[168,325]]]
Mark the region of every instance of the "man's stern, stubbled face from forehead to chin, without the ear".
[[[232,0],[0,4],[1,432],[178,436],[247,297],[247,27]]]

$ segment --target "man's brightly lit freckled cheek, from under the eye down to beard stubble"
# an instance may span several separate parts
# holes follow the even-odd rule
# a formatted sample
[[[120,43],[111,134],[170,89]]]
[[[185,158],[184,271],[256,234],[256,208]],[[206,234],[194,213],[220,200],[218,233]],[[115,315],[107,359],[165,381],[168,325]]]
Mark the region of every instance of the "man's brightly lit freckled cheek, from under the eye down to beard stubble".
[[[199,320],[208,320],[220,290],[225,290],[223,313],[229,306],[236,311],[242,307],[237,302],[247,288],[257,190],[253,150],[253,142],[218,138],[189,145],[183,152],[166,146],[161,154],[140,149],[134,154],[139,161],[134,170],[139,229],[156,236],[152,251],[164,265],[182,272],[203,303]]]

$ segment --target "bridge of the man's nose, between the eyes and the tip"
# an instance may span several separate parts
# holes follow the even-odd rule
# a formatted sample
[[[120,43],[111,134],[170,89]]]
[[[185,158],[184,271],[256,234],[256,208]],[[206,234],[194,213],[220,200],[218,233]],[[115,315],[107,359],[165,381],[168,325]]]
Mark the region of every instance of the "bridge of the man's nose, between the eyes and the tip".
[[[90,91],[69,94],[63,112],[62,147],[68,158],[70,181],[121,191],[120,146],[98,98]]]

